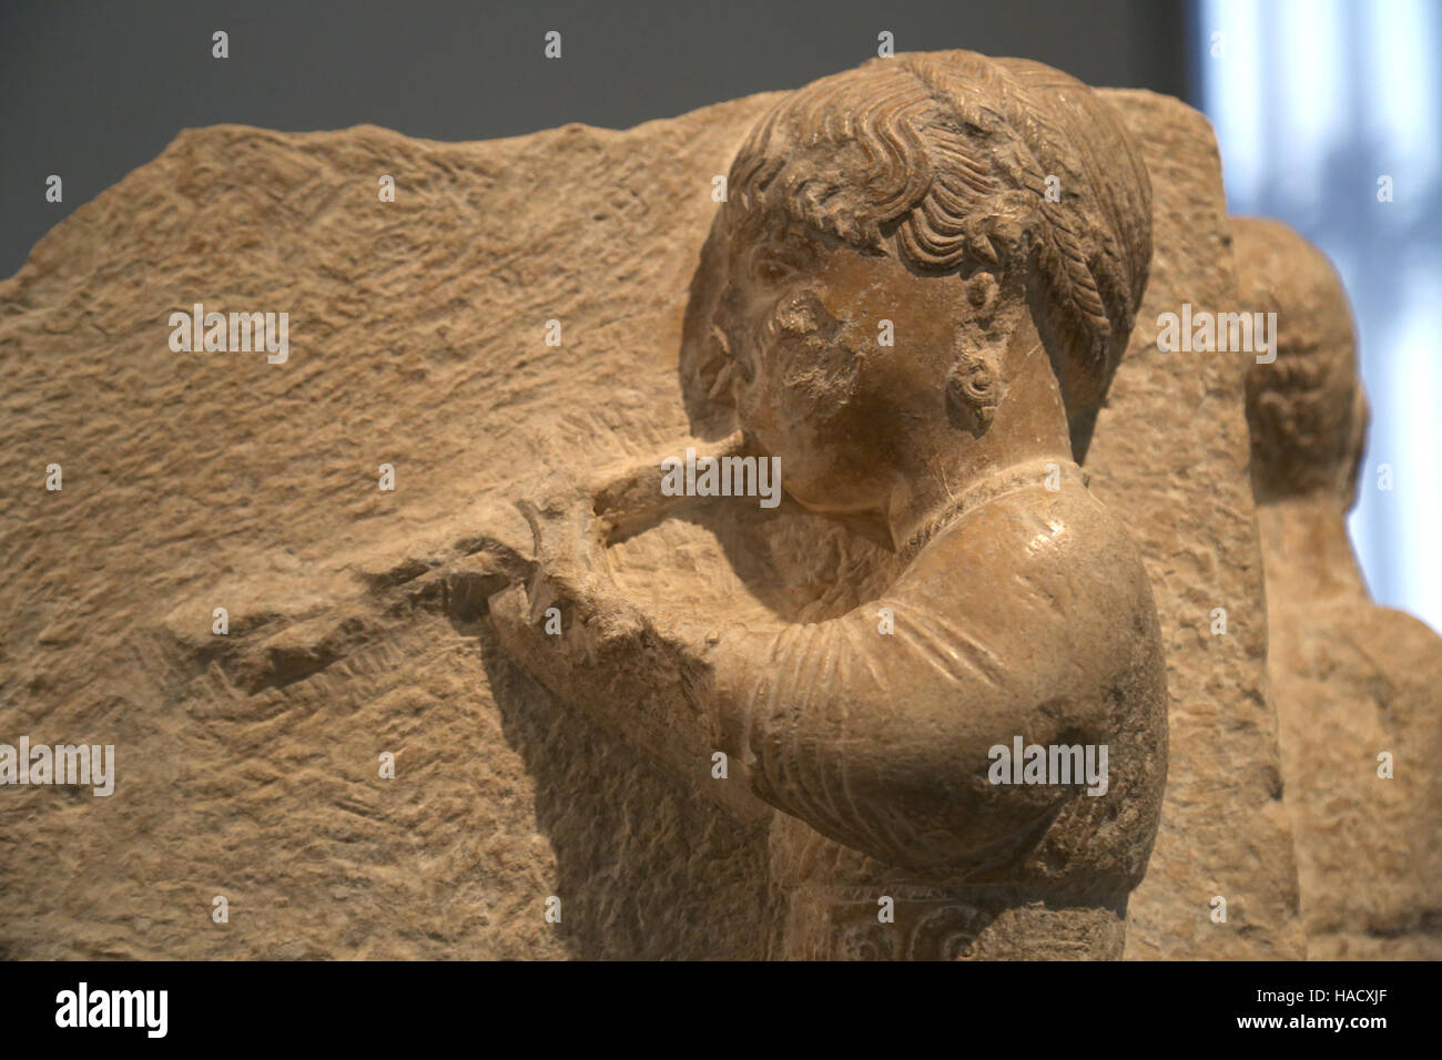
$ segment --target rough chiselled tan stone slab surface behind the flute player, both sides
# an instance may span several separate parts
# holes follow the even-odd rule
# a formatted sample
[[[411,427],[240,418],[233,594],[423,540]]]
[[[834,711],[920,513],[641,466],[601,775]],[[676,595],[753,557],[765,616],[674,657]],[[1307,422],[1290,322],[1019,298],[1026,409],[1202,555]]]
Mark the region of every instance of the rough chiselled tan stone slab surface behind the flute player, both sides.
[[[1295,956],[1242,365],[1161,355],[1148,330],[1234,296],[1216,151],[1175,101],[1107,98],[1152,169],[1156,257],[1086,467],[1142,549],[1172,698],[1128,955]],[[634,463],[685,433],[676,350],[711,176],[771,100],[472,144],[187,131],[0,286],[0,740],[114,743],[120,772],[110,799],[0,792],[7,955],[782,952],[767,816],[721,809],[513,671],[476,541],[528,541],[496,498],[531,469]],[[195,301],[288,310],[288,363],[172,353],[166,320]],[[617,548],[619,577],[645,600],[663,555],[696,603],[764,583],[793,614],[884,577],[839,531],[789,552],[786,518],[754,570],[668,522]]]

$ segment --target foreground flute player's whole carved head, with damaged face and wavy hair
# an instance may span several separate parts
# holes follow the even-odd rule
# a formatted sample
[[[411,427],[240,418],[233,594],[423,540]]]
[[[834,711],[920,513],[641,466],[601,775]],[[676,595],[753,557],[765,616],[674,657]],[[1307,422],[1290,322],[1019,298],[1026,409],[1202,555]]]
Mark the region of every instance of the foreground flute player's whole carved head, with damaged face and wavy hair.
[[[1149,262],[1146,170],[1086,85],[875,59],[786,95],[738,151],[686,312],[688,411],[833,513],[1080,459]]]

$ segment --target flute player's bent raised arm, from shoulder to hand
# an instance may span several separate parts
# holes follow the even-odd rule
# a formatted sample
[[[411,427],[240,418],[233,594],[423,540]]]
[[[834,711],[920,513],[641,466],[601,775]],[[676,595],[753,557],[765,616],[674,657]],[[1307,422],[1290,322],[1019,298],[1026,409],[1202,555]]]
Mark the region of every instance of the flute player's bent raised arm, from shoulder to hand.
[[[565,587],[538,591],[532,609]],[[1090,828],[1155,813],[1165,676],[1151,593],[1080,487],[969,512],[891,593],[829,622],[717,629],[613,601],[547,643],[519,604],[499,604],[503,642],[559,694],[712,793],[760,798],[887,864],[985,870],[1079,799]],[[994,785],[991,750],[1018,737],[1107,744],[1107,792]]]

